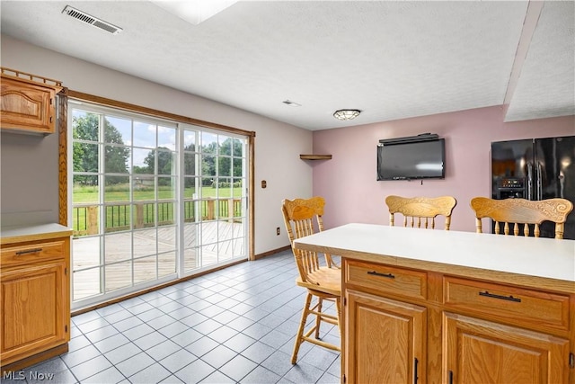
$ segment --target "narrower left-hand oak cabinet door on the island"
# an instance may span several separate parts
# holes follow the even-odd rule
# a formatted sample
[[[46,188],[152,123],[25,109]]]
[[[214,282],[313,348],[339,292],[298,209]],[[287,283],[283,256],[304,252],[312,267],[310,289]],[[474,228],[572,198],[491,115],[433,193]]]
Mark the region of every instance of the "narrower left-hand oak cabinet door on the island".
[[[426,308],[353,290],[346,299],[347,383],[425,382]]]

